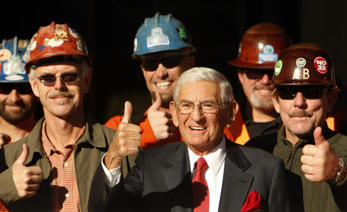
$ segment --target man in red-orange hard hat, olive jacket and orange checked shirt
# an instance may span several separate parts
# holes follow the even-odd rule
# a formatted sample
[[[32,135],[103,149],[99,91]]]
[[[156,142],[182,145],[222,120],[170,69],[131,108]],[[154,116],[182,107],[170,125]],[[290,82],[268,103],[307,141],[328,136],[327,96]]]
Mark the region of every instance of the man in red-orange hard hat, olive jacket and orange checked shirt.
[[[93,173],[116,132],[83,109],[92,78],[87,46],[53,21],[34,34],[26,57],[44,117],[0,149],[0,199],[10,211],[87,211]]]

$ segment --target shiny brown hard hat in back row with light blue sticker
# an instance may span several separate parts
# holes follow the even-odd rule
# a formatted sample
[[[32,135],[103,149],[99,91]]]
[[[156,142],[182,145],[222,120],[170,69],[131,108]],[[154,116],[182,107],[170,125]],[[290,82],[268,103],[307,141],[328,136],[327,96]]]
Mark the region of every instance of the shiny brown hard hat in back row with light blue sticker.
[[[260,23],[247,29],[239,46],[239,56],[230,65],[251,69],[273,69],[278,55],[291,41],[280,26]]]

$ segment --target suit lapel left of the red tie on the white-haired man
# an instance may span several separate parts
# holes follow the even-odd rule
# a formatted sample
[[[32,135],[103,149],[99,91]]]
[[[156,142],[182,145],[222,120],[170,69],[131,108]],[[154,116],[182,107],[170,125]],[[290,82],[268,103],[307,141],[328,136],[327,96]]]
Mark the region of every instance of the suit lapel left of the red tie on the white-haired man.
[[[192,212],[191,166],[187,145],[182,142],[177,151],[167,160],[169,166],[163,171],[171,199],[177,200],[175,211]]]

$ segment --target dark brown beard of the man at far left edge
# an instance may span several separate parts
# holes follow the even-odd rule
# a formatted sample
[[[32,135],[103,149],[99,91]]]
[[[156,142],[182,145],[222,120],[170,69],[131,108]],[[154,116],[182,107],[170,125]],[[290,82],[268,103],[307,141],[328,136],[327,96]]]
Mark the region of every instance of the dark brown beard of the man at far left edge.
[[[0,104],[0,116],[8,123],[12,125],[16,125],[26,120],[27,118],[29,118],[29,116],[34,112],[36,108],[36,99],[34,99],[31,106],[28,103],[23,101],[18,102],[17,104],[14,104],[14,105],[19,105],[22,107],[24,106],[24,108],[19,110],[12,110],[10,112],[5,110],[5,106],[7,104],[8,103],[6,102],[3,102]]]

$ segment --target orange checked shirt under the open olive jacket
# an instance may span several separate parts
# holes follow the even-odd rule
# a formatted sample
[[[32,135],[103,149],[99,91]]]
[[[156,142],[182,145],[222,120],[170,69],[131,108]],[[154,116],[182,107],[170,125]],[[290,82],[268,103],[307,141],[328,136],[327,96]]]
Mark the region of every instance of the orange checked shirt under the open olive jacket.
[[[46,121],[42,124],[42,144],[52,164],[52,186],[50,211],[80,211],[79,194],[75,174],[74,149],[83,134],[85,126],[73,144],[66,145],[64,152],[58,151],[46,134]],[[71,154],[72,153],[72,154]],[[39,203],[38,203],[39,204]]]

